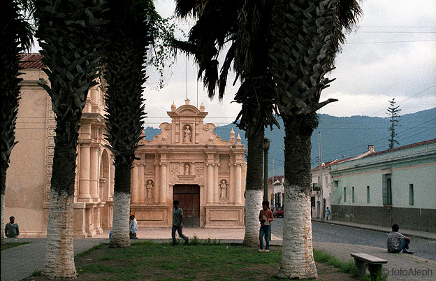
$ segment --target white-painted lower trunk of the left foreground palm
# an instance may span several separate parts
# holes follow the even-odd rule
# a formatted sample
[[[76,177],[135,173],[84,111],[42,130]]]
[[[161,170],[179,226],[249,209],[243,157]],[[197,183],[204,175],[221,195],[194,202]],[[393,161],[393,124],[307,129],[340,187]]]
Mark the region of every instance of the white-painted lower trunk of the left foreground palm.
[[[75,278],[73,217],[74,195],[50,191],[47,247],[43,275],[50,279]]]

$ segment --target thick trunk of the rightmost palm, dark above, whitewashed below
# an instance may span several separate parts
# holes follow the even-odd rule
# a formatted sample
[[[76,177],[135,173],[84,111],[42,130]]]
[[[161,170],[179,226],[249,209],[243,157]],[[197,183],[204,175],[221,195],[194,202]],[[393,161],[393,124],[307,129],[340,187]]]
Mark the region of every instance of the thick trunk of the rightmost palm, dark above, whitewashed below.
[[[312,115],[284,120],[284,224],[279,278],[318,278],[310,218]]]

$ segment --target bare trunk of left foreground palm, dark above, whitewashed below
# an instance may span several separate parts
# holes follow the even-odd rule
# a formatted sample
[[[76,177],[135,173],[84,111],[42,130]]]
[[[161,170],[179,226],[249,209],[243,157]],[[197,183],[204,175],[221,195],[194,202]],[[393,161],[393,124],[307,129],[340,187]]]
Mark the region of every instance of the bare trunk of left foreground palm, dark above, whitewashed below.
[[[43,275],[75,278],[73,215],[78,122],[57,122]],[[73,131],[75,129],[75,131]],[[73,133],[68,133],[73,132]]]

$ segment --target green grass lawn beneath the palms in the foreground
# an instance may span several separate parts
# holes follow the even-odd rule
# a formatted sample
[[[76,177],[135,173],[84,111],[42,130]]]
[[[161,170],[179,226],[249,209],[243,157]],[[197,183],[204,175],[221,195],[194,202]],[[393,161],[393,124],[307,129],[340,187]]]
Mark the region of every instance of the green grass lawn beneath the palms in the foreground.
[[[282,247],[270,252],[238,244],[197,245],[132,243],[129,248],[111,249],[107,244],[75,257],[77,280],[277,280]],[[324,257],[325,258],[325,257]],[[356,280],[337,268],[318,264],[319,280]],[[36,272],[27,280],[45,280]]]

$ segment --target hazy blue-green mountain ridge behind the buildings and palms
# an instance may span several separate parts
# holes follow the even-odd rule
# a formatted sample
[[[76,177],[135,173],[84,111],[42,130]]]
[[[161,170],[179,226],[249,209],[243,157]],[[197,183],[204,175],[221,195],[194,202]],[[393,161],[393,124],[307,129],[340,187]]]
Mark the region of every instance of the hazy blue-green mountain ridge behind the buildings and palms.
[[[265,129],[266,138],[270,140],[268,152],[270,176],[284,173],[284,126],[282,119],[277,118],[277,120],[280,129]],[[402,115],[399,121],[395,133],[398,134],[396,140],[400,144],[395,147],[436,138],[436,108]],[[319,115],[319,126],[312,134],[312,168],[319,165],[319,134],[321,134],[322,161],[327,162],[361,154],[368,150],[368,145],[375,145],[376,151],[387,150],[390,124],[388,117]],[[215,129],[215,133],[222,139],[228,140],[232,128],[236,136],[240,134],[242,143],[247,147],[245,132],[238,129],[235,124],[219,126]],[[152,139],[160,131],[147,127],[146,139]]]

